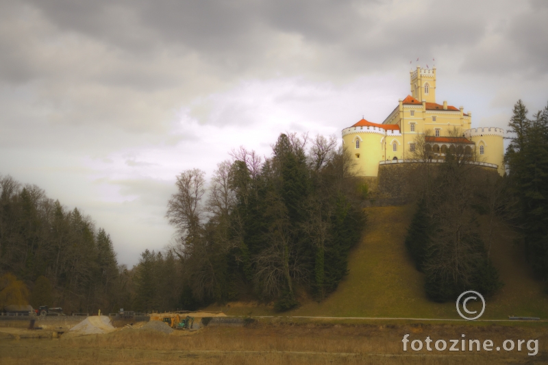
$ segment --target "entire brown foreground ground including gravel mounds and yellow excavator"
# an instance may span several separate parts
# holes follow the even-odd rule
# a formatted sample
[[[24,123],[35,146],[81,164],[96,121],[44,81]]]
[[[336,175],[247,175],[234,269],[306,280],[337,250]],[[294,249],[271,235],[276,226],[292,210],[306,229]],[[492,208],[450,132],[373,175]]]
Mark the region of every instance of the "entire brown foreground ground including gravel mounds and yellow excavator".
[[[12,364],[548,364],[543,321],[145,316],[0,316],[0,363]],[[401,338],[537,338],[527,352],[401,350]],[[533,361],[532,361],[533,360]]]

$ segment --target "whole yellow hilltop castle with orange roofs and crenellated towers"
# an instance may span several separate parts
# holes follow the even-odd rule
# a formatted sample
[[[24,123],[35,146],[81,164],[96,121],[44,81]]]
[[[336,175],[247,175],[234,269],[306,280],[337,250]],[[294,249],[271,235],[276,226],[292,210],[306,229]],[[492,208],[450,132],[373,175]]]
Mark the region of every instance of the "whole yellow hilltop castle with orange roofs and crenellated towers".
[[[447,149],[464,147],[475,151],[476,162],[504,173],[504,130],[498,127],[472,128],[471,112],[436,103],[436,68],[418,66],[410,71],[411,95],[381,123],[362,119],[343,129],[343,144],[356,160],[358,175],[377,177],[379,165],[416,162],[417,138],[423,138],[428,158],[443,162]],[[462,136],[451,136],[457,128]],[[429,130],[429,135],[424,136]]]

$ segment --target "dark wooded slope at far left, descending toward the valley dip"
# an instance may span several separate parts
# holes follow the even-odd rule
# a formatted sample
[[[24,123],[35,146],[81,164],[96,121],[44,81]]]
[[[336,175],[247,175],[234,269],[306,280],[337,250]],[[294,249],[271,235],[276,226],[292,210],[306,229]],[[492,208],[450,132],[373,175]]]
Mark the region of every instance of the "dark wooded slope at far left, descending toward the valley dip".
[[[10,176],[0,176],[0,193],[0,277],[6,286],[0,291],[23,283],[33,307],[56,305],[66,312],[118,305],[119,268],[104,229]]]

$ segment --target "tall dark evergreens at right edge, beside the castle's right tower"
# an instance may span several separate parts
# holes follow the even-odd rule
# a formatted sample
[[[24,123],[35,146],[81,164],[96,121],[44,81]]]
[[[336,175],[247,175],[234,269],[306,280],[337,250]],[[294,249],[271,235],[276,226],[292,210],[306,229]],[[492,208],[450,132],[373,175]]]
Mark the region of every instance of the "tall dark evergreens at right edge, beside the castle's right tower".
[[[508,185],[516,199],[512,223],[523,238],[535,275],[548,280],[548,106],[527,116],[520,100],[510,119],[512,138],[506,151]],[[547,285],[548,292],[548,285]]]

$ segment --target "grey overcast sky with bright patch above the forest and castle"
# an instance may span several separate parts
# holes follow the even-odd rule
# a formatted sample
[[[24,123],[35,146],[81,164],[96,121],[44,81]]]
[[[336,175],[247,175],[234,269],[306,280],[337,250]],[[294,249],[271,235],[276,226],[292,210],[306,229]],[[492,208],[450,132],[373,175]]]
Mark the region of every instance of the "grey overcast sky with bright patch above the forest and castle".
[[[131,266],[171,240],[175,175],[382,123],[417,65],[473,127],[543,108],[547,19],[544,0],[0,0],[0,174],[90,214]]]

